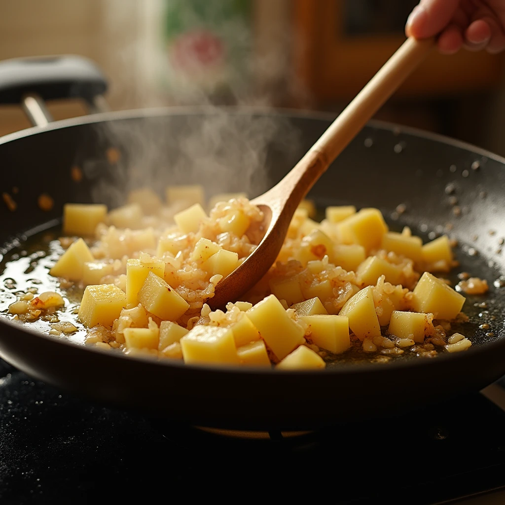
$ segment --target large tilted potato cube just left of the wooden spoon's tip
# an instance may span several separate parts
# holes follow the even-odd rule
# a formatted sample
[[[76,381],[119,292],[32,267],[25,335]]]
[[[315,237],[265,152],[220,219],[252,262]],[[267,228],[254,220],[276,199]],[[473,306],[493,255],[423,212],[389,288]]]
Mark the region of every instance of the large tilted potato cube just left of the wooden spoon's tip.
[[[138,292],[138,300],[147,312],[164,321],[177,321],[189,307],[177,291],[152,271]]]

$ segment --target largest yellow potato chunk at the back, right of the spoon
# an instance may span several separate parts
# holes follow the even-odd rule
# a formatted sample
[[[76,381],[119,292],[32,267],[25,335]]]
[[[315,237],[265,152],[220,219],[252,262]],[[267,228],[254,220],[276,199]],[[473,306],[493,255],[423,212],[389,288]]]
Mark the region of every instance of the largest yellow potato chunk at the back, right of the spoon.
[[[357,214],[340,221],[337,229],[342,243],[363,245],[367,252],[379,247],[382,236],[388,231],[378,209],[362,209]]]

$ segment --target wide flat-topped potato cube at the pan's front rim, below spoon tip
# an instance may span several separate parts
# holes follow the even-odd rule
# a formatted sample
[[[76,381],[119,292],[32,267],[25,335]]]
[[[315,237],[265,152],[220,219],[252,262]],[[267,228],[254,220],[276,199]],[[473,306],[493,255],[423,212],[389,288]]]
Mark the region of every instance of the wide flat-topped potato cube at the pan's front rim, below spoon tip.
[[[186,364],[239,363],[230,328],[196,325],[181,338],[180,344]]]

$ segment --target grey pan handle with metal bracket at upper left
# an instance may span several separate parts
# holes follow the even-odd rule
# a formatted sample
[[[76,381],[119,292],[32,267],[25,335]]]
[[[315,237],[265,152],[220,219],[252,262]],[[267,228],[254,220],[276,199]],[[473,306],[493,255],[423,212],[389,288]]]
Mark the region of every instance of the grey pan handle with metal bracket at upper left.
[[[21,104],[34,126],[52,121],[44,100],[82,98],[90,112],[107,110],[107,79],[82,56],[42,56],[0,62],[0,104]]]

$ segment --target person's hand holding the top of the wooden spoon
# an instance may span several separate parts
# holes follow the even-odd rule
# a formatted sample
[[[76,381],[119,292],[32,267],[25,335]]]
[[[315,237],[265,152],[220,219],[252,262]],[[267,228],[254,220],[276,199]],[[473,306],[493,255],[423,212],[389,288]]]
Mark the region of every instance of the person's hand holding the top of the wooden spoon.
[[[421,0],[405,28],[407,36],[438,36],[443,54],[464,46],[470,51],[505,49],[505,0]]]

